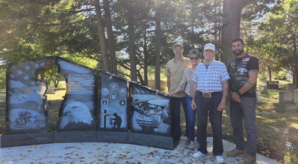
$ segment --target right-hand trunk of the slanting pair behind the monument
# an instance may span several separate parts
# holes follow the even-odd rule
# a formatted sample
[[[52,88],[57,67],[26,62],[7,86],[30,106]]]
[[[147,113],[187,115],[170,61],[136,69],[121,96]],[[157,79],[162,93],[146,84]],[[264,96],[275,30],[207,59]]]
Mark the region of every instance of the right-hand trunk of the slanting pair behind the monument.
[[[110,13],[110,4],[108,0],[103,0],[103,8],[105,11],[105,22],[108,34],[108,47],[109,47],[109,54],[110,54],[110,61],[111,61],[111,73],[118,74],[117,72],[117,62],[116,62],[116,53],[115,53],[115,41],[114,41],[114,34],[112,28],[112,21],[111,21],[111,13]]]

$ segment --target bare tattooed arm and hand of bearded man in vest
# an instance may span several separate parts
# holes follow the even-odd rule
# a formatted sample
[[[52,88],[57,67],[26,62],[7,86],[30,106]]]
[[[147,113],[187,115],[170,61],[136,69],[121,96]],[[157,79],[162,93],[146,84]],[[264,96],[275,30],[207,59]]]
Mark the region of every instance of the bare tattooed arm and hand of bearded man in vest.
[[[242,86],[242,88],[240,88],[239,92],[240,94],[245,93],[246,91],[248,91],[250,88],[252,88],[254,86],[255,83],[257,83],[257,77],[258,77],[258,70],[249,70],[248,71],[248,80],[246,81],[246,83]],[[231,95],[231,99],[233,101],[236,101],[239,99],[239,95],[236,92],[232,92]]]

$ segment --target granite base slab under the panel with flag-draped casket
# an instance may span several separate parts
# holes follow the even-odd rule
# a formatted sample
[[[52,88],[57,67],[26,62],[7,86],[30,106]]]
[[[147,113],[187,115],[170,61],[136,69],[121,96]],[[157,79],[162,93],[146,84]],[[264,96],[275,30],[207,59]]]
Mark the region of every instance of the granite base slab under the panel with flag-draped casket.
[[[179,145],[179,135],[175,133],[172,136],[161,136],[128,132],[128,143],[174,150]]]

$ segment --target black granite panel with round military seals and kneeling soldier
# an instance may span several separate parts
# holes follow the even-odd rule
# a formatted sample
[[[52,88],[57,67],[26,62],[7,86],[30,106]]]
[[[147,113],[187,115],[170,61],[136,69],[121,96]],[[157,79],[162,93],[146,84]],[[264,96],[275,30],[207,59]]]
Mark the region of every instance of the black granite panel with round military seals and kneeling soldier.
[[[128,132],[128,81],[109,72],[99,74],[99,130]]]

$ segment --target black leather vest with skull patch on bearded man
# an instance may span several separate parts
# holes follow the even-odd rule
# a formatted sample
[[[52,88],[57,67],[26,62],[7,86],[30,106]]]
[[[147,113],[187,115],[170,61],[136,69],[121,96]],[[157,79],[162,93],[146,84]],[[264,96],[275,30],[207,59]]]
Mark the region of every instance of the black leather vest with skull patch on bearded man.
[[[238,65],[235,65],[236,59],[232,60],[229,64],[230,67],[230,87],[233,92],[237,92],[249,79],[248,71],[247,71],[247,63],[252,56],[246,54],[242,61],[239,62]],[[257,84],[255,84],[252,88],[250,88],[245,93],[253,93],[257,89]],[[244,93],[243,93],[244,94]]]

